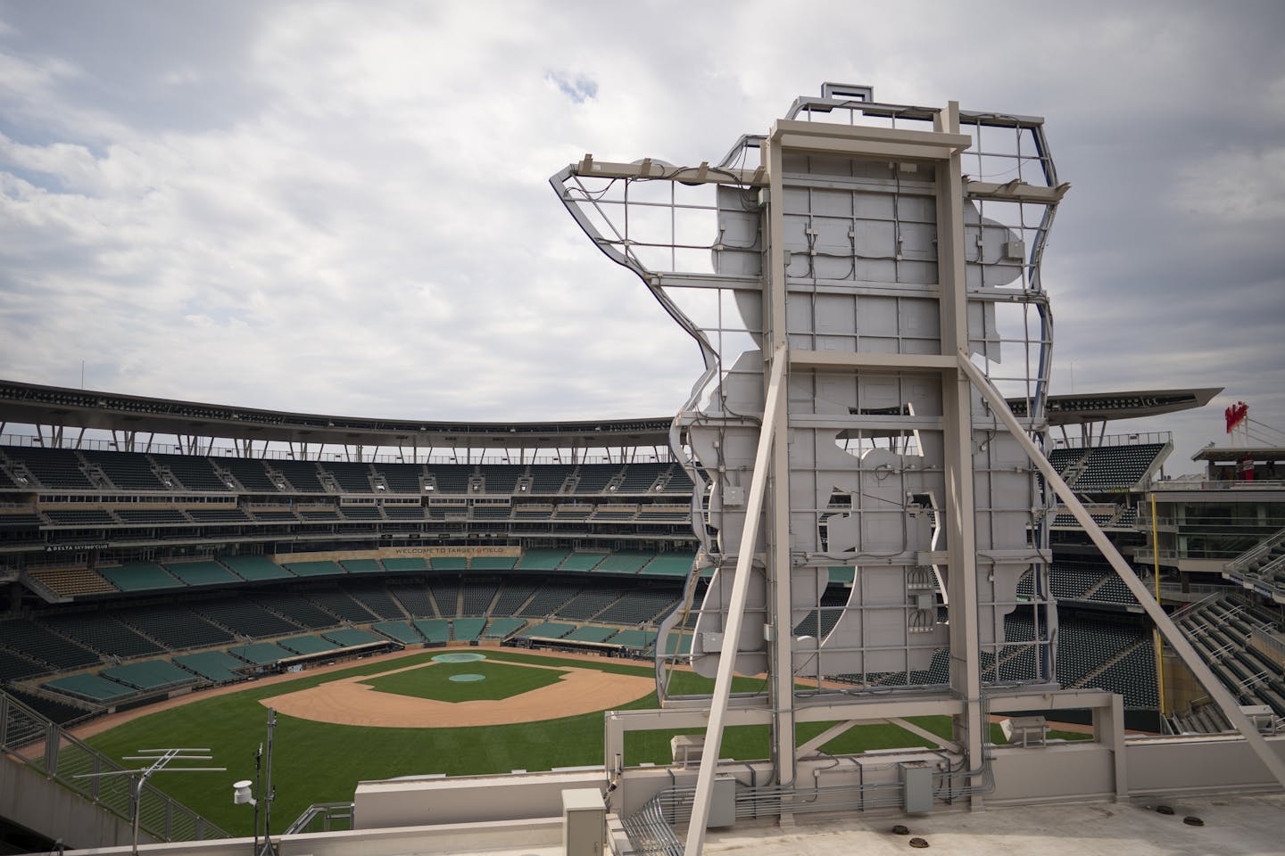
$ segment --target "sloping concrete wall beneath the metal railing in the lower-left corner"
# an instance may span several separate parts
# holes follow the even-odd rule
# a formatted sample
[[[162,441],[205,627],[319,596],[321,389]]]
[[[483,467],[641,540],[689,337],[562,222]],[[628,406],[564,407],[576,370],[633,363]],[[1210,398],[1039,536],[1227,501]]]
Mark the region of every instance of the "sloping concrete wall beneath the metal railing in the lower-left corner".
[[[127,821],[8,756],[0,756],[0,816],[46,838],[62,838],[68,847],[109,847],[132,841]],[[139,843],[152,841],[139,833]]]

